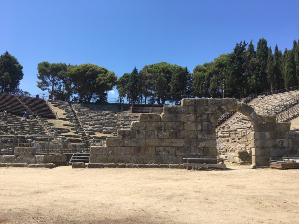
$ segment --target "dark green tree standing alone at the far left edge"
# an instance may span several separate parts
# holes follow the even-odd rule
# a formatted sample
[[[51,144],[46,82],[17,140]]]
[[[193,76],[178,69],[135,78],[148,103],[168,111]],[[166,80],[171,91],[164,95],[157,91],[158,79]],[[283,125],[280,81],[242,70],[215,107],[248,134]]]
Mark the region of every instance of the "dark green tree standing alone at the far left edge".
[[[23,78],[23,67],[8,51],[0,56],[1,93],[10,93],[19,87]]]

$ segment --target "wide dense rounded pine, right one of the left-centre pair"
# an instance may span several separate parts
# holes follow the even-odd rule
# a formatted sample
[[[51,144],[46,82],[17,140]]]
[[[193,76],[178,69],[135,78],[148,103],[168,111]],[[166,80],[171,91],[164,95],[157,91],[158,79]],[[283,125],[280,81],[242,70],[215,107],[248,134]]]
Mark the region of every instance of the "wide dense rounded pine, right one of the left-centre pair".
[[[117,76],[107,68],[94,64],[82,64],[74,66],[69,75],[76,86],[76,91],[81,98],[86,97],[88,102],[96,95],[103,96],[116,85]]]

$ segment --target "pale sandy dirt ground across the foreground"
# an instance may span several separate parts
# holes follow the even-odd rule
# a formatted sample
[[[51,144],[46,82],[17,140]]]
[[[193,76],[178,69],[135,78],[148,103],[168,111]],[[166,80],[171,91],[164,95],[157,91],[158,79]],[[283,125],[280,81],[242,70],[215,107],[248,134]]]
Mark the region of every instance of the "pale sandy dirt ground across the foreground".
[[[0,168],[0,223],[297,223],[299,170]]]

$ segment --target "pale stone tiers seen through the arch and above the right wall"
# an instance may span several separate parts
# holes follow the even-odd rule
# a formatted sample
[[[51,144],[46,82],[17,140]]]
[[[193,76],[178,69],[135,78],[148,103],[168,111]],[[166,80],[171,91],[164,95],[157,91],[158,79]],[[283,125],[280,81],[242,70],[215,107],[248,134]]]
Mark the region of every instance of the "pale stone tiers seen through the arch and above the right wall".
[[[271,108],[274,107],[283,107],[286,105],[286,102],[290,100],[294,101],[298,98],[299,90],[280,93],[270,96],[259,96],[256,101],[251,106],[257,113],[267,113]],[[218,134],[219,140],[222,141],[222,150],[224,151],[233,151],[229,150],[231,142],[240,142],[244,141],[244,147],[249,149],[250,144],[250,133],[253,131],[253,126],[251,125],[249,119],[242,115],[241,113],[236,113],[233,117],[231,117],[228,121],[221,124],[216,128],[216,132]],[[248,142],[248,144],[247,144]],[[234,149],[236,147],[232,147]]]

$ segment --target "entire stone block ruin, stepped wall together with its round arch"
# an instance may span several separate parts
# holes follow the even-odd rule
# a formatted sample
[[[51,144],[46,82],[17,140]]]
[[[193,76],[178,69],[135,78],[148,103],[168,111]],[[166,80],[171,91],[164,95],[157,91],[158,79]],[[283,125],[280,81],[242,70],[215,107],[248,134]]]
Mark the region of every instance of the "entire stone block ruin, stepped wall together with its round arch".
[[[191,98],[182,99],[181,106],[164,106],[160,115],[140,114],[130,129],[107,138],[106,146],[92,146],[89,163],[182,164],[184,157],[216,158],[216,123],[228,111],[241,112],[254,126],[253,165],[269,166],[270,158],[299,153],[299,132],[290,131],[290,123],[276,123],[275,115],[257,114],[235,98]]]

